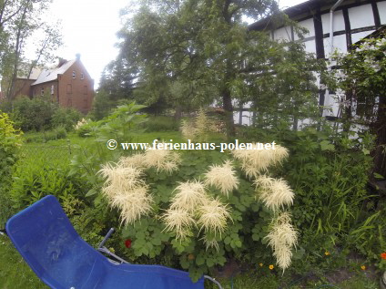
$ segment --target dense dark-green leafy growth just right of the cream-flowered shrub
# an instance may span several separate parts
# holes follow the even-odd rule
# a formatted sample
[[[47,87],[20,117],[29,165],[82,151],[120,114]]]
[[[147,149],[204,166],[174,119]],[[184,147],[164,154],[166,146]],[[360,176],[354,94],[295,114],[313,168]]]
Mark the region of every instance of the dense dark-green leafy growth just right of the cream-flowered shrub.
[[[307,255],[300,263],[301,259],[312,262],[320,250],[335,250],[360,252],[369,263],[384,266],[380,252],[386,251],[382,238],[386,208],[380,205],[381,196],[368,188],[370,134],[352,138],[355,132],[333,132],[329,124],[323,124],[320,131],[292,131],[283,126],[246,132],[248,139],[273,137],[290,149],[290,161],[283,170],[297,193],[292,213],[300,228],[302,252]]]

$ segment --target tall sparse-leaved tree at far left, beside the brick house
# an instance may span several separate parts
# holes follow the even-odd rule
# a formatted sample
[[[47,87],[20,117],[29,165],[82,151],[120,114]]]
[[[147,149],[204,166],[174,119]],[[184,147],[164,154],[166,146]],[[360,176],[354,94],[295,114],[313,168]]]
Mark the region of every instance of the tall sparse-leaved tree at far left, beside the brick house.
[[[34,67],[52,59],[52,52],[61,44],[57,25],[42,20],[49,3],[50,0],[0,1],[0,75],[9,100],[20,92],[20,88],[15,87],[16,78],[29,77]],[[33,38],[37,40],[34,44]],[[25,59],[28,45],[36,47],[33,60]]]

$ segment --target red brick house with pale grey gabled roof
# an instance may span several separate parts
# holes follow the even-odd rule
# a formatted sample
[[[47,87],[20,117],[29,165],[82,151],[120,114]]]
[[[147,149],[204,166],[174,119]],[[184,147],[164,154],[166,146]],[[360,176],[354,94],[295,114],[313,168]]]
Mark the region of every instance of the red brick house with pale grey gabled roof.
[[[43,70],[30,85],[29,96],[35,98],[49,94],[60,107],[76,108],[83,113],[91,109],[94,98],[94,79],[86,68],[76,59],[60,59],[59,64],[49,70]]]

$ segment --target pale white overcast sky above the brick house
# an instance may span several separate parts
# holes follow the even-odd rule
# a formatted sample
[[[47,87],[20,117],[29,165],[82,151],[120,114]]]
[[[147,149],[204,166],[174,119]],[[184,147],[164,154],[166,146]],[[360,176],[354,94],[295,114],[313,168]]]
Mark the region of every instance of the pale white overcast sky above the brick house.
[[[280,7],[298,5],[304,0],[280,0]],[[102,70],[117,56],[116,33],[121,27],[119,10],[129,0],[54,0],[50,17],[61,19],[64,46],[58,57],[74,59],[80,53],[95,88]]]

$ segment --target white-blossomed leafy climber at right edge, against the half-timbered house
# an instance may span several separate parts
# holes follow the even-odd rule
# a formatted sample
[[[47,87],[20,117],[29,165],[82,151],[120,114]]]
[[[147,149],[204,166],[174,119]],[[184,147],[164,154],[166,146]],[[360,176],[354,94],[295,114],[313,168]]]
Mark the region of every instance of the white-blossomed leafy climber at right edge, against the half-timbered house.
[[[383,29],[384,30],[384,29]],[[361,41],[338,57],[338,88],[345,92],[341,105],[345,129],[359,122],[377,135],[373,151],[375,171],[386,178],[386,39],[384,32]],[[340,92],[340,94],[341,94]]]

